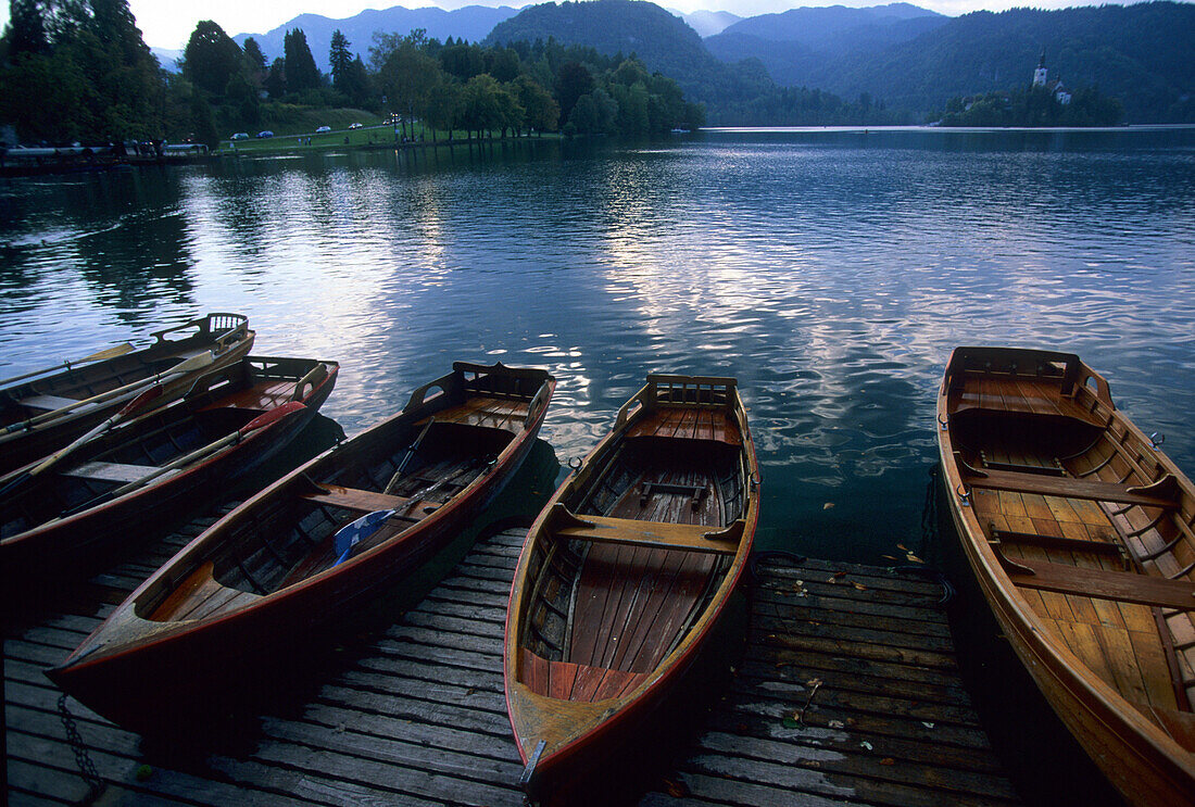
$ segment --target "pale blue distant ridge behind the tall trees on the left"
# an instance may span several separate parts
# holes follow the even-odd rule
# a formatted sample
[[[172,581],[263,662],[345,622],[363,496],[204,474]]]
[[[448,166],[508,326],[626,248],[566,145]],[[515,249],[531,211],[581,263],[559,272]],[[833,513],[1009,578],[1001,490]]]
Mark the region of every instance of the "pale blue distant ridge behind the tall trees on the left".
[[[265,59],[274,61],[282,55],[282,39],[287,31],[296,27],[302,29],[307,37],[307,45],[311,48],[311,55],[315,59],[315,65],[326,73],[331,69],[327,54],[332,44],[332,32],[337,29],[348,37],[350,50],[361,54],[361,57],[368,61],[369,45],[373,43],[375,31],[405,35],[422,27],[427,30],[429,37],[435,39],[442,41],[453,37],[479,42],[494,30],[495,25],[517,13],[519,10],[510,6],[497,8],[464,6],[454,11],[394,6],[381,11],[368,8],[344,19],[331,19],[320,14],[300,14],[265,33],[238,33],[233,39],[238,44],[245,44],[245,39],[252,37],[261,45]]]

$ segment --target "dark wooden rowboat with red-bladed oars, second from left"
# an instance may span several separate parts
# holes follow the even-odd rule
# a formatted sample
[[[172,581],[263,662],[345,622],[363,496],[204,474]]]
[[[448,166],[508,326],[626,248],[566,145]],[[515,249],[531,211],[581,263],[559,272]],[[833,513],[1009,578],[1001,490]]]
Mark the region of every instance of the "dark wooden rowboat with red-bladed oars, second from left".
[[[47,470],[0,477],[0,561],[10,577],[69,576],[111,544],[153,534],[227,494],[315,415],[338,365],[246,357],[166,406],[82,442]]]

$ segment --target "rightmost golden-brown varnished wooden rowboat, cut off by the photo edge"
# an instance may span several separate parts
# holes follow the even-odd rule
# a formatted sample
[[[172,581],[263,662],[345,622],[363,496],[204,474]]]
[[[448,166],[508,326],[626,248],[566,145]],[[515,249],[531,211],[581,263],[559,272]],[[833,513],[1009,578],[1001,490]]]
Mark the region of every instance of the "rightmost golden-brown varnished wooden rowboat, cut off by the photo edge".
[[[1195,487],[1078,356],[958,348],[938,446],[963,549],[1046,699],[1134,805],[1195,803]]]

